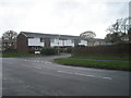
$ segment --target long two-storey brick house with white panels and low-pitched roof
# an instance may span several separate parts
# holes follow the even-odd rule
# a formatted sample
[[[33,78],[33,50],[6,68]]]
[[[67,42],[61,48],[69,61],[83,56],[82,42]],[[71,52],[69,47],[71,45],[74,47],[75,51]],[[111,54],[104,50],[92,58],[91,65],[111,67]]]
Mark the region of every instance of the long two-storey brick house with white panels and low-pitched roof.
[[[87,39],[80,36],[52,35],[41,33],[21,32],[17,36],[17,52],[37,52],[43,47],[68,48],[87,46]]]

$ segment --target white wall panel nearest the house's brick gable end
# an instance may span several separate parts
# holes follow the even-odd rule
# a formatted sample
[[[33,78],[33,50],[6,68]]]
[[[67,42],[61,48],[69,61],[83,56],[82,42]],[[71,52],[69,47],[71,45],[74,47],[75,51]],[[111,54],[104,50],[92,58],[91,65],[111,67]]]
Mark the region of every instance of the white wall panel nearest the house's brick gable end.
[[[44,42],[40,42],[40,38],[28,38],[28,46],[41,46],[44,47]]]

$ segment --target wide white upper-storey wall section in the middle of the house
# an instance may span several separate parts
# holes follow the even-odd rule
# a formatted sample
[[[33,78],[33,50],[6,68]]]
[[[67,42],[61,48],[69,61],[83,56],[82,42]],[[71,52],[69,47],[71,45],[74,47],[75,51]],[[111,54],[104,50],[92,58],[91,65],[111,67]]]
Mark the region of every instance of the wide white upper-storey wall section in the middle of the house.
[[[51,47],[57,47],[57,46],[59,46],[59,47],[63,47],[63,46],[74,47],[74,42],[72,42],[71,39],[68,39],[68,40],[53,39],[53,41],[51,39],[50,46]]]

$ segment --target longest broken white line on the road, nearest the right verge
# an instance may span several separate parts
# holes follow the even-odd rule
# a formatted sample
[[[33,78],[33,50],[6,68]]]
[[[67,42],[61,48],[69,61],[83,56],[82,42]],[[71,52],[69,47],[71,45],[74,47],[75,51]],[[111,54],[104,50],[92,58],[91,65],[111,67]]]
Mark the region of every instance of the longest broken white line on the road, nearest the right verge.
[[[88,75],[88,74],[83,74],[83,73],[72,73],[72,72],[67,72],[67,71],[57,71],[57,72],[59,72],[59,73],[66,73],[66,74],[81,75],[81,76],[87,76],[87,77],[112,79],[111,77],[95,76],[95,75]]]

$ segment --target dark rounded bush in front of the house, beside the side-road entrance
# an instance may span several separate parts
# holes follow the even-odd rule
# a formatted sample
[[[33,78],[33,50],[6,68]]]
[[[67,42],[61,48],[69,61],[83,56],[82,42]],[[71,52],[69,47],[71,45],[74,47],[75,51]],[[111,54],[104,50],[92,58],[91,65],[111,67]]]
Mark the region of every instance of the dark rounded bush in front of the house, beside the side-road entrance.
[[[57,54],[57,49],[56,48],[43,48],[40,53],[46,54],[46,56],[51,56],[51,54]]]

